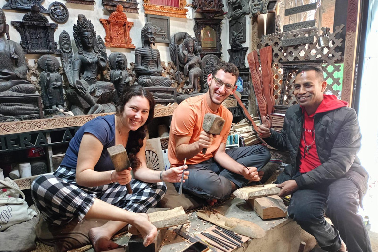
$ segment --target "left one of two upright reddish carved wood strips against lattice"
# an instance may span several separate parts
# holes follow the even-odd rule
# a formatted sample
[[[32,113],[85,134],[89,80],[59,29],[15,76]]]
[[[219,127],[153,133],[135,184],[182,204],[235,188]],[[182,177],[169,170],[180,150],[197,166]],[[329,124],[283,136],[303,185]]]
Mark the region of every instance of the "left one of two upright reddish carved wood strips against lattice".
[[[251,78],[254,87],[254,93],[256,95],[258,110],[260,111],[260,116],[267,115],[266,109],[266,100],[263,95],[262,91],[262,77],[259,70],[260,63],[258,62],[257,51],[254,50],[253,52],[247,55],[248,65],[250,67]]]

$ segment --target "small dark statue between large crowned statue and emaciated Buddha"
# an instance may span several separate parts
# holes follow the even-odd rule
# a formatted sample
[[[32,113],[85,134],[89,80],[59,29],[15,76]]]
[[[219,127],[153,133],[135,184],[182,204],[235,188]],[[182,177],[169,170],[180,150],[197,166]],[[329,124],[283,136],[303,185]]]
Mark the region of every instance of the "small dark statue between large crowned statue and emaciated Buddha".
[[[114,87],[116,88],[116,95],[113,99],[115,103],[119,101],[120,96],[124,92],[125,86],[130,85],[130,78],[126,70],[126,65],[127,59],[124,54],[112,53],[109,56],[109,66],[110,69],[112,69],[110,71],[110,81],[114,84]]]

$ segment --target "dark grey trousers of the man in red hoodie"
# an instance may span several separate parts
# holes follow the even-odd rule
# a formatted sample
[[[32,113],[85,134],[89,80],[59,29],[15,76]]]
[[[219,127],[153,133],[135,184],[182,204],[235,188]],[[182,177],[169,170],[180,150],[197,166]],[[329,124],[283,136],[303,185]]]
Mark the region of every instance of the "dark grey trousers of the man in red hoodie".
[[[329,186],[294,192],[288,214],[315,237],[323,250],[338,251],[341,237],[349,252],[372,252],[368,232],[362,217],[357,214],[358,198],[354,182],[340,178]],[[324,214],[334,226],[325,221]]]

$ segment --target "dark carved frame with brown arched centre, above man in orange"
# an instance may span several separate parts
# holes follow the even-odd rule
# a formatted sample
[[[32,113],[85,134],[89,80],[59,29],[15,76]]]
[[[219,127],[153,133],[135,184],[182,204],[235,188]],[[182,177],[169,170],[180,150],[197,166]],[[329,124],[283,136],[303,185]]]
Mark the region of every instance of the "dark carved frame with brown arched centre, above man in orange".
[[[198,45],[202,46],[200,55],[203,57],[207,54],[215,54],[221,58],[222,19],[194,18],[194,20],[194,33],[198,38]]]

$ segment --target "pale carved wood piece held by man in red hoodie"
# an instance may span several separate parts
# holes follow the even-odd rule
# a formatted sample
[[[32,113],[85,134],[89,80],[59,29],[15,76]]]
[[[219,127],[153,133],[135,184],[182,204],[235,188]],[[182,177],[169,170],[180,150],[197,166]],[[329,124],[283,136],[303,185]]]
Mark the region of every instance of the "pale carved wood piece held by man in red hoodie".
[[[265,187],[261,185],[242,187],[234,191],[234,195],[240,199],[255,199],[276,195],[280,192],[281,188],[276,187],[276,184],[266,184]]]

